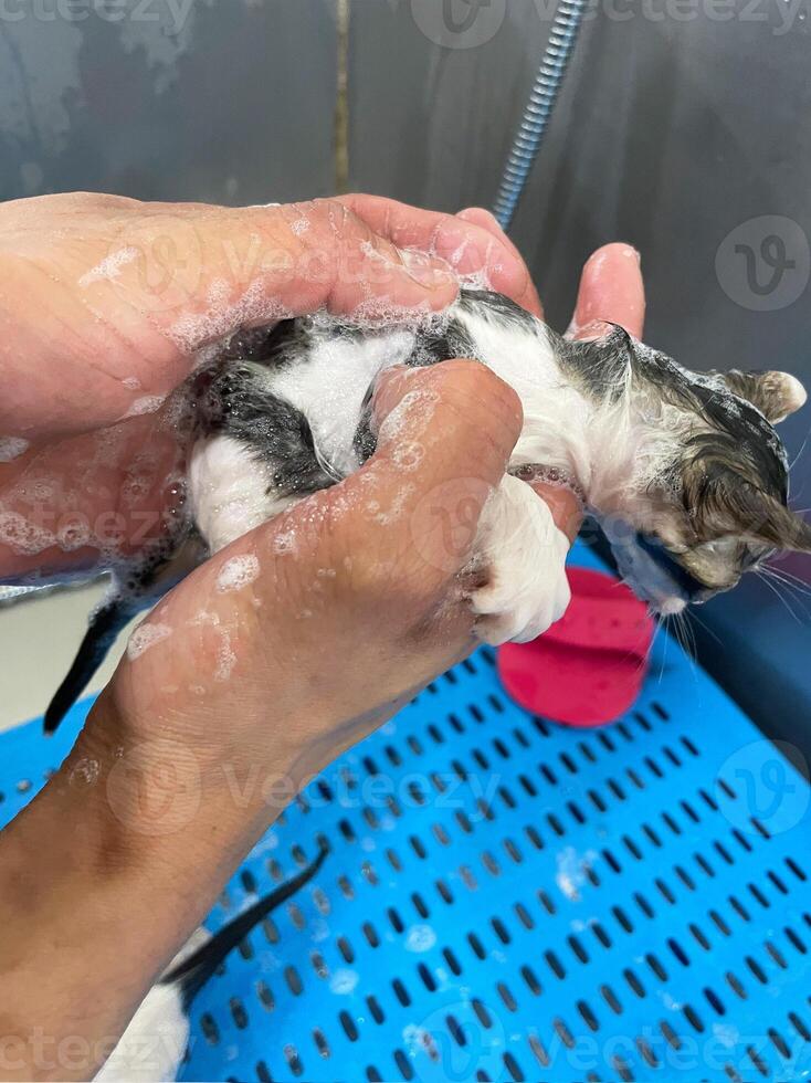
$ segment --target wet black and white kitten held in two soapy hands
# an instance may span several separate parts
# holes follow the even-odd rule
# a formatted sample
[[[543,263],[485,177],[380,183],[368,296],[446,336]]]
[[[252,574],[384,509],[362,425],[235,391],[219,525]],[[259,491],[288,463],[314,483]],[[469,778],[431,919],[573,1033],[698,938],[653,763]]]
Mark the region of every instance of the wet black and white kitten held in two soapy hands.
[[[173,546],[196,534],[215,553],[339,483],[375,450],[379,375],[456,357],[488,366],[524,407],[510,473],[480,525],[488,575],[470,600],[483,641],[534,639],[569,601],[568,543],[520,480],[527,467],[546,469],[581,495],[626,581],[661,613],[728,590],[776,549],[811,551],[811,526],[788,508],[788,461],[772,428],[805,401],[797,379],[691,372],[620,327],[596,341],[567,341],[506,297],[473,290],[426,325],[369,328],[317,315],[234,336],[185,389],[194,442],[189,514]],[[137,570],[144,595],[166,557]],[[93,618],[48,729],[138,603],[130,591]]]

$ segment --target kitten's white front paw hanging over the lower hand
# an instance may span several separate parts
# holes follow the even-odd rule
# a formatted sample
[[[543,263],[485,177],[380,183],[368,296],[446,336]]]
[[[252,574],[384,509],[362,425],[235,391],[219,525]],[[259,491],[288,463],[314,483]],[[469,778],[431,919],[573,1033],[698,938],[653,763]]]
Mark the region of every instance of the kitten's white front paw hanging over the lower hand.
[[[504,479],[482,514],[476,548],[486,576],[471,595],[478,639],[527,643],[560,620],[571,598],[569,540],[526,482]]]

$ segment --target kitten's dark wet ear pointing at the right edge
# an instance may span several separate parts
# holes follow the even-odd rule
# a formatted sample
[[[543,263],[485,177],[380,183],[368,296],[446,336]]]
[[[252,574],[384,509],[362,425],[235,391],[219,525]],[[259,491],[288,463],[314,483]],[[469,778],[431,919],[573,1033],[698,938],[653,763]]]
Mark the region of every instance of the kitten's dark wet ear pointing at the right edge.
[[[705,490],[699,511],[702,534],[757,538],[775,549],[811,553],[811,523],[733,471]]]

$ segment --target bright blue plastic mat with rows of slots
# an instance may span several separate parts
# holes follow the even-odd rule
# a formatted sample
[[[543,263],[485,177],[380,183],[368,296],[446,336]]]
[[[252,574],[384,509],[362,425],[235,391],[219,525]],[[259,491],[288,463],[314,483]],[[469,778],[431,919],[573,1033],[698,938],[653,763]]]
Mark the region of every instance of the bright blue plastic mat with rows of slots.
[[[327,841],[198,997],[183,1077],[809,1075],[809,787],[667,637],[651,670],[628,716],[575,730],[482,650],[343,756],[210,917]],[[0,739],[6,820],[81,717]]]

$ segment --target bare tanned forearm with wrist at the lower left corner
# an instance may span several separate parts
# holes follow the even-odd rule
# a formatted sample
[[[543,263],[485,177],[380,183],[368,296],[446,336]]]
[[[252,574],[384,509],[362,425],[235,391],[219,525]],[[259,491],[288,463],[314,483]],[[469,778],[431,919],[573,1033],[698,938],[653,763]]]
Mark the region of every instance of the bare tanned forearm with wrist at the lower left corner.
[[[273,819],[267,787],[245,781],[134,744],[99,703],[0,835],[0,1079],[94,1074]]]

